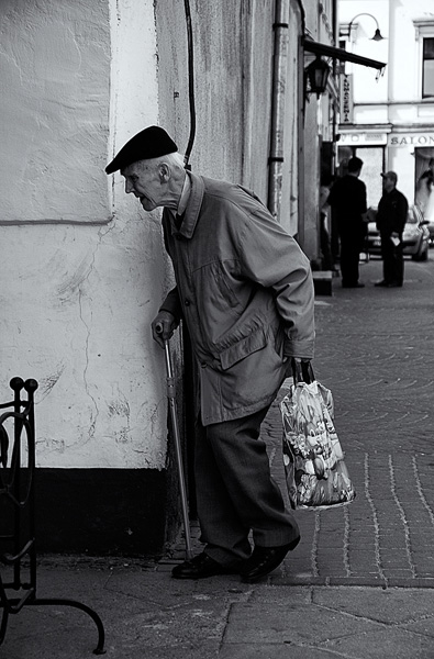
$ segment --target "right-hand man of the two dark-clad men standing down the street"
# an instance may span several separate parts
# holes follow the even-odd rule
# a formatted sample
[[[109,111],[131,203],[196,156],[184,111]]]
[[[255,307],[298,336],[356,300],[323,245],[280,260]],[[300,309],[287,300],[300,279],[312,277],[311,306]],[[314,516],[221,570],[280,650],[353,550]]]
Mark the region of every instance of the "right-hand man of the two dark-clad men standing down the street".
[[[404,231],[409,202],[397,190],[398,176],[394,171],[381,174],[383,192],[378,204],[377,228],[381,236],[382,280],[375,286],[401,287],[404,279],[402,232]]]

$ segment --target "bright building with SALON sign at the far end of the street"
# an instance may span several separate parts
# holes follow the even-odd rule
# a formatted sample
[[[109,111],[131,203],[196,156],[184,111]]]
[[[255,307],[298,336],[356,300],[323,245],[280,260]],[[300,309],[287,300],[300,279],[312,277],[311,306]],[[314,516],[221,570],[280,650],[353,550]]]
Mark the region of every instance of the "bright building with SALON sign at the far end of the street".
[[[372,40],[376,30],[383,37]],[[345,65],[348,88],[341,112],[338,163],[365,165],[368,204],[381,197],[379,174],[393,170],[410,203],[434,157],[434,5],[430,0],[340,0],[341,47],[388,66],[374,71]]]

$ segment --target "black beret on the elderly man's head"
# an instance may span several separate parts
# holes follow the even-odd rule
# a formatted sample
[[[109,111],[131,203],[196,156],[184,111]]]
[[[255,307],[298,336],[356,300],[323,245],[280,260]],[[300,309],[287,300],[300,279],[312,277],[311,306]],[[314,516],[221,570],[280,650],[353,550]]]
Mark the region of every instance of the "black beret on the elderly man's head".
[[[105,167],[105,174],[124,169],[137,160],[158,158],[177,152],[178,147],[164,129],[148,126],[130,139]]]

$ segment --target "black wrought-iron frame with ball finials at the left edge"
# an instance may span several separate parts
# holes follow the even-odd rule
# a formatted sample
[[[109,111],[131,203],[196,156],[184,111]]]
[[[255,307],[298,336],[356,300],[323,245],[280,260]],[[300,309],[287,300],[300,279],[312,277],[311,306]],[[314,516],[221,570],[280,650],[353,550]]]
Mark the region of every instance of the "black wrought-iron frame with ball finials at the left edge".
[[[94,655],[104,654],[104,627],[99,615],[75,600],[36,596],[35,420],[36,380],[12,378],[14,400],[0,404],[0,645],[10,614],[24,605],[66,605],[87,613],[98,628]],[[23,390],[26,399],[22,399]],[[2,573],[7,580],[3,581]]]

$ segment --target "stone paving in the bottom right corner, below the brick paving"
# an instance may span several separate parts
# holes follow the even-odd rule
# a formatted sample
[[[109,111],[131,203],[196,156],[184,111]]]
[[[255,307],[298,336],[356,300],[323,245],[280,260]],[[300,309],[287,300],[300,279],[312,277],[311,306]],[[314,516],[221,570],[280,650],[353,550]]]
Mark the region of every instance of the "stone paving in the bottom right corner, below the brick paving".
[[[433,605],[431,590],[269,588],[232,605],[219,657],[432,658]]]

